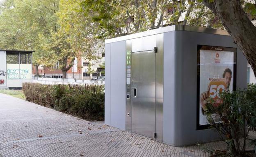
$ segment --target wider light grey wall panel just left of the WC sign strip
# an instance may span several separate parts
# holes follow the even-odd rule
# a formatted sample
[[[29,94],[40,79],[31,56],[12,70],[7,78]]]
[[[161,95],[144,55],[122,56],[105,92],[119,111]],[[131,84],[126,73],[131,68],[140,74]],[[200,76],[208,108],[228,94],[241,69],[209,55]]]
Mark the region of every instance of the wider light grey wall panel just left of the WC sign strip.
[[[126,41],[111,43],[110,124],[125,130],[126,116]]]

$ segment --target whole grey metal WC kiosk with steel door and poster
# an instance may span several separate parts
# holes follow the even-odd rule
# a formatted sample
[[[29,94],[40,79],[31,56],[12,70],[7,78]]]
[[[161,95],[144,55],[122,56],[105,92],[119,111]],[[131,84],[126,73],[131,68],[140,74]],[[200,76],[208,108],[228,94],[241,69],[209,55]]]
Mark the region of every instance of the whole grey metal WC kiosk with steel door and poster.
[[[217,140],[207,99],[221,104],[219,91],[246,88],[246,76],[224,30],[173,25],[105,40],[105,124],[173,146]]]

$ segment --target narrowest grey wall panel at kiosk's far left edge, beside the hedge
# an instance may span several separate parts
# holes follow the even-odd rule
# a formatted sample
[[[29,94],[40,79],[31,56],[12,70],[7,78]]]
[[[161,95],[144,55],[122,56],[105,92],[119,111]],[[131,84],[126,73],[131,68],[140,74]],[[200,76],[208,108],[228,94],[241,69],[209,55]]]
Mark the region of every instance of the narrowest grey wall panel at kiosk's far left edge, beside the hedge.
[[[111,54],[111,44],[105,44],[105,124],[110,125],[110,54]]]

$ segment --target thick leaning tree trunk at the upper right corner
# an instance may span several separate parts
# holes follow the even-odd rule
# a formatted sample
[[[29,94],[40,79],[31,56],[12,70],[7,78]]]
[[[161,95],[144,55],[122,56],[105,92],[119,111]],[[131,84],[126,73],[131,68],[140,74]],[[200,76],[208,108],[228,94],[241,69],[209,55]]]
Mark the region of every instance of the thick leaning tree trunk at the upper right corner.
[[[256,27],[243,10],[240,0],[203,0],[203,4],[219,17],[256,76]]]

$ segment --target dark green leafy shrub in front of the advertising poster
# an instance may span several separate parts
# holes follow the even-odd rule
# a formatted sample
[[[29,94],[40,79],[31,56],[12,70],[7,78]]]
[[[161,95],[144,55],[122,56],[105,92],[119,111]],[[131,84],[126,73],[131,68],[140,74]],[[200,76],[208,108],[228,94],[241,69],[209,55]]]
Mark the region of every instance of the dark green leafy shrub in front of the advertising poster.
[[[246,154],[246,140],[250,130],[256,129],[256,85],[249,84],[245,90],[220,94],[223,103],[214,105],[210,100],[206,105],[206,115],[211,127],[227,144],[224,152],[228,156]]]

